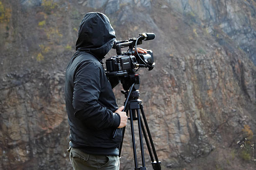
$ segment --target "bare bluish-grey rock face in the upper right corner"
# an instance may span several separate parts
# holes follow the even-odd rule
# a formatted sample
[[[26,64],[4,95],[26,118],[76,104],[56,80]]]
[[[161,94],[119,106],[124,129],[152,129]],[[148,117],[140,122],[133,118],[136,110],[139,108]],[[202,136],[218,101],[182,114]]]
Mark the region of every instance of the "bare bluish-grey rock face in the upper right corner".
[[[173,10],[187,15],[207,29],[218,27],[248,54],[256,65],[255,2],[236,0],[166,0]],[[251,17],[248,17],[251,16]],[[195,20],[195,18],[199,20]]]

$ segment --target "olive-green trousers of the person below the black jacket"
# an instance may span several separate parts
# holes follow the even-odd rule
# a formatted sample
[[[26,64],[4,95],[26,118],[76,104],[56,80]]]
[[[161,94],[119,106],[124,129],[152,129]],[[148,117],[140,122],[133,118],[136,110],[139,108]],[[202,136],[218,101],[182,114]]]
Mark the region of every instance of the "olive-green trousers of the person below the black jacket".
[[[87,154],[72,147],[67,151],[73,170],[119,170],[118,156]]]

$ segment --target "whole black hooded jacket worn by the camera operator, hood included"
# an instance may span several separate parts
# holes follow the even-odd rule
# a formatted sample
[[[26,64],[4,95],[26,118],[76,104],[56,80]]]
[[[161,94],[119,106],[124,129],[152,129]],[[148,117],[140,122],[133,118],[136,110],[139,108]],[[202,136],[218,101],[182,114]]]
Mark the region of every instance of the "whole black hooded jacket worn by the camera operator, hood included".
[[[102,13],[87,13],[79,25],[76,53],[66,69],[65,96],[70,146],[98,155],[118,155],[122,138],[112,138],[120,124],[118,109],[102,58],[110,51],[115,31]]]

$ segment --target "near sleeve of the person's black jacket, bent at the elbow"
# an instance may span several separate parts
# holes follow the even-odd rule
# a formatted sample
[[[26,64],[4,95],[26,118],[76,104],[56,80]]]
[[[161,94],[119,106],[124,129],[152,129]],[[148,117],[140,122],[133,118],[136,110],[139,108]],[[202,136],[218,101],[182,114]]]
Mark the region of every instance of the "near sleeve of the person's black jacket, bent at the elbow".
[[[100,105],[102,79],[100,66],[94,62],[82,63],[74,76],[73,107],[74,116],[82,120],[86,126],[95,129],[118,127],[120,116]]]

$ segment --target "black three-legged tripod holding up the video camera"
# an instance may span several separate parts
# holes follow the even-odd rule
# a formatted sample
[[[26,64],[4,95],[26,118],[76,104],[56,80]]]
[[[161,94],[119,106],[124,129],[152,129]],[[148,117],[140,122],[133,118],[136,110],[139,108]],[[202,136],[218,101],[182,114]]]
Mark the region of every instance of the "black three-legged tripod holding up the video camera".
[[[133,157],[134,157],[134,166],[135,166],[135,170],[146,170],[146,165],[145,165],[145,159],[144,159],[144,149],[143,149],[143,142],[142,142],[142,132],[144,135],[144,139],[148,148],[148,152],[149,152],[149,156],[151,159],[151,164],[154,170],[161,170],[161,162],[158,160],[158,157],[156,155],[156,149],[154,147],[154,143],[148,128],[148,123],[146,121],[146,117],[143,111],[143,104],[142,101],[140,99],[138,99],[138,97],[140,96],[140,93],[138,91],[139,88],[139,75],[136,74],[135,76],[135,82],[133,82],[133,84],[131,84],[131,87],[129,89],[129,91],[121,91],[123,94],[125,94],[125,103],[124,103],[124,111],[126,111],[126,115],[128,116],[128,114],[130,115],[130,117],[128,118],[131,122],[131,137],[132,137],[132,144],[133,144]],[[128,109],[126,109],[128,108]],[[140,110],[141,110],[141,114],[140,114]],[[137,117],[136,117],[136,113],[137,113]],[[141,115],[143,118],[143,121],[145,123],[145,127],[143,126],[143,121],[141,119]],[[141,147],[141,160],[142,160],[142,166],[138,167],[138,162],[137,162],[137,154],[136,154],[136,143],[135,143],[135,137],[134,137],[134,129],[133,129],[133,121],[138,121],[138,132],[139,132],[139,138],[140,138],[140,147]],[[142,132],[141,132],[142,130]],[[114,131],[113,133],[113,138],[115,138],[117,134],[117,129]],[[124,134],[125,134],[125,127],[123,127],[123,135],[122,135],[122,142],[120,143],[119,146],[119,158],[121,155],[121,150],[122,150],[122,145],[123,145],[123,138],[124,138]],[[147,137],[148,135],[148,137]],[[151,152],[151,148],[148,142],[148,138],[154,153],[154,157],[156,158],[156,160],[154,160],[152,152]]]

